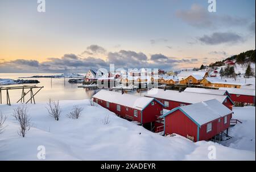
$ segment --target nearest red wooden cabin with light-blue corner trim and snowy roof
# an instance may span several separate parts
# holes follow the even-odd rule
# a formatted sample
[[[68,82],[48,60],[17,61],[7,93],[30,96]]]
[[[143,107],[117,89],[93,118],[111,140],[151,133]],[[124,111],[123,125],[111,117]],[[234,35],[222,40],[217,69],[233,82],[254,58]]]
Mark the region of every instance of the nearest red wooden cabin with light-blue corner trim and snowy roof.
[[[162,115],[164,134],[178,134],[193,141],[210,140],[228,132],[232,111],[217,100],[181,106]]]

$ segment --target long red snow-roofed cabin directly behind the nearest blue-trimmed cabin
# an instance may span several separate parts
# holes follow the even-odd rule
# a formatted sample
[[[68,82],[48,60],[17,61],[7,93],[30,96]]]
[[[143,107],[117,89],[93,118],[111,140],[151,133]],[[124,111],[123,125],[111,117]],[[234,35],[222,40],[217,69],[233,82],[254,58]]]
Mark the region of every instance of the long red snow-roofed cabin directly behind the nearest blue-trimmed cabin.
[[[165,109],[172,110],[179,106],[186,106],[196,104],[202,101],[208,101],[216,99],[228,107],[230,110],[233,109],[233,101],[229,96],[226,95],[215,95],[215,94],[204,94],[204,93],[192,93],[192,92],[179,92],[164,89],[152,88],[145,95],[146,97],[154,97],[158,101],[162,102]]]

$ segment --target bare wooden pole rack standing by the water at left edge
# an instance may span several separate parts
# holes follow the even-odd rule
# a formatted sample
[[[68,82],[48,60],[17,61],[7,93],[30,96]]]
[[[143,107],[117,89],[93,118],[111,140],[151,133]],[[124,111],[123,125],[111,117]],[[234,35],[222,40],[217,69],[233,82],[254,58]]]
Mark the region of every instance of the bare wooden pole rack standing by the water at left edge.
[[[25,103],[25,96],[28,94],[28,101],[26,101],[26,104],[28,102],[30,102],[32,104],[32,102],[34,102],[35,104],[35,96],[36,94],[44,87],[37,87],[35,85],[23,85],[23,86],[15,86],[15,87],[1,87],[0,86],[0,104],[2,104],[2,91],[6,91],[6,104],[11,106],[11,101],[10,101],[10,94],[9,91],[14,90],[14,89],[18,89],[21,91],[21,97],[20,99],[16,102],[23,102]],[[35,93],[33,92],[33,89],[38,89]]]

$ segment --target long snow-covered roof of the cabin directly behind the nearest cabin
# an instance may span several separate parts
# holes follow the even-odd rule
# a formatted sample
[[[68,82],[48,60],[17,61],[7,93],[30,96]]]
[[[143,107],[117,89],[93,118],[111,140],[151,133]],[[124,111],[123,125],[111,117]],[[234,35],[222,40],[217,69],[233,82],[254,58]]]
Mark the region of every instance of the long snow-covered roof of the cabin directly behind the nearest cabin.
[[[179,91],[172,91],[172,90],[164,91],[164,89],[158,89],[158,88],[152,88],[150,91],[147,92],[145,96],[161,98],[164,100],[184,102],[188,104],[196,104],[201,101],[207,101],[212,99],[216,99],[222,103],[228,97],[228,96],[221,96],[221,95],[214,95],[214,94],[179,92]]]

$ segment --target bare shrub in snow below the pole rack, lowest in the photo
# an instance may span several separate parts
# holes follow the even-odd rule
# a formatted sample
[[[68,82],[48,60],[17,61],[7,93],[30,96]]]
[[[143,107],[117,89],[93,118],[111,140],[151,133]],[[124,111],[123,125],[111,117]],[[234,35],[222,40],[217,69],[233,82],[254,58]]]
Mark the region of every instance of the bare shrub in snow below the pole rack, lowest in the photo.
[[[27,114],[27,106],[19,106],[18,108],[14,109],[13,117],[19,123],[19,131],[18,134],[20,136],[25,137],[28,130],[32,126],[30,122],[30,117]]]

